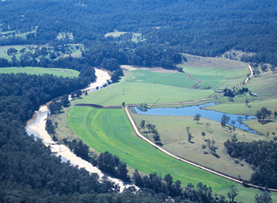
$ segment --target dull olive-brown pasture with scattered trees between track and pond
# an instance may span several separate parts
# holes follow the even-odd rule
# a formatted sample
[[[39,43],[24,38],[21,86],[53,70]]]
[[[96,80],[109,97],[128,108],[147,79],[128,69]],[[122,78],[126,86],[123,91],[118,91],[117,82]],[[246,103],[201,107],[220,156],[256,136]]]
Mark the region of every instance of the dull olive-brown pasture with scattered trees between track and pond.
[[[243,160],[237,160],[239,163],[234,163],[234,159],[230,158],[224,150],[224,142],[227,141],[227,139],[231,139],[234,133],[237,133],[239,141],[268,140],[265,136],[258,136],[246,131],[241,131],[239,128],[236,128],[234,133],[230,133],[230,131],[227,131],[227,128],[222,129],[219,122],[201,117],[199,124],[197,124],[196,121],[193,121],[193,116],[145,116],[134,113],[132,113],[131,116],[137,126],[139,126],[141,120],[145,120],[149,124],[155,124],[161,135],[163,148],[171,153],[232,177],[241,177],[244,180],[249,180],[253,173],[251,166]],[[205,125],[206,123],[210,124],[209,128]],[[193,136],[193,143],[188,142],[188,133],[186,130],[188,126]],[[143,129],[140,129],[140,131],[143,133]],[[216,158],[211,153],[204,154],[208,152],[208,150],[201,149],[202,144],[207,144],[204,141],[202,132],[206,134],[205,139],[210,139],[210,141],[214,139],[214,141],[216,141],[216,146],[218,147],[217,155],[219,155],[220,158]],[[153,141],[153,135],[147,133],[147,130],[143,135]]]

